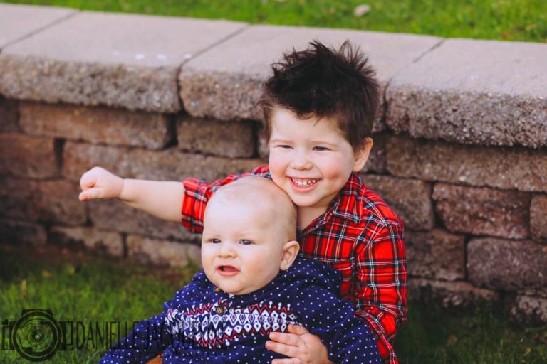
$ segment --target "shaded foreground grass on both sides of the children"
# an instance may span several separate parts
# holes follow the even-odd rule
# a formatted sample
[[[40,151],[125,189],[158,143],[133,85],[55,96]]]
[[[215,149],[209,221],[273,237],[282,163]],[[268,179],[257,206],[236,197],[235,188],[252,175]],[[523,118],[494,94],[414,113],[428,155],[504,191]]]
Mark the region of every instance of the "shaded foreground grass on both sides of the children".
[[[0,250],[0,320],[15,321],[22,309],[52,309],[58,321],[86,325],[138,321],[160,312],[194,272]],[[395,347],[401,363],[547,363],[547,328],[510,323],[485,305],[462,310],[412,302]],[[48,363],[96,363],[103,350],[59,351]],[[0,363],[20,361],[15,351],[0,350]]]

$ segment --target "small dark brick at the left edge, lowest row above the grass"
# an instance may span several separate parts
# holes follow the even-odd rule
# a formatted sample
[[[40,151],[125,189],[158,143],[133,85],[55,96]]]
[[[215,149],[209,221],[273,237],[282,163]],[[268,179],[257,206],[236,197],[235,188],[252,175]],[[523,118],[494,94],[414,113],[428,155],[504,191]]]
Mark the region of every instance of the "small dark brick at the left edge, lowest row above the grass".
[[[42,225],[15,220],[0,220],[0,244],[45,245],[48,236]]]

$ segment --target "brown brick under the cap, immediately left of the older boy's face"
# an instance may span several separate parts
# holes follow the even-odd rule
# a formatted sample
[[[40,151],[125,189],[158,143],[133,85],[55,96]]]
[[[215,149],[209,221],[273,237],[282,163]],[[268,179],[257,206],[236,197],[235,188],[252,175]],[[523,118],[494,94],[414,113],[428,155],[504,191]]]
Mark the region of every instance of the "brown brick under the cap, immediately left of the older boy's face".
[[[181,116],[177,119],[179,148],[214,156],[249,158],[254,156],[254,124]]]

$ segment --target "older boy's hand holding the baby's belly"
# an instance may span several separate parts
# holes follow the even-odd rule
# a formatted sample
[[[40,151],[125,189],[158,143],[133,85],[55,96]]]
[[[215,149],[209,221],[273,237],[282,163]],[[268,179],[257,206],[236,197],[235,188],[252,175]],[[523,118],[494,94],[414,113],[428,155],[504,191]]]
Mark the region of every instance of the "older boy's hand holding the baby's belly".
[[[266,348],[288,356],[290,359],[274,359],[272,364],[327,364],[327,348],[318,336],[304,326],[289,325],[288,333],[270,333]]]

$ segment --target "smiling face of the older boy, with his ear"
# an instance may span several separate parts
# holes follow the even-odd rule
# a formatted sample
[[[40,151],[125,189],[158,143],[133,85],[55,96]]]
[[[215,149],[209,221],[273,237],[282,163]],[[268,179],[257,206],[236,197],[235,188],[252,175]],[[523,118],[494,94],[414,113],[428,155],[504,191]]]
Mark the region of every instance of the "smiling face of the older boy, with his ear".
[[[270,172],[298,208],[325,212],[352,171],[360,171],[372,143],[355,156],[333,120],[298,119],[288,109],[271,114]]]

